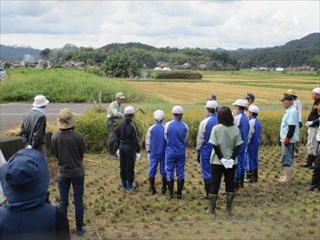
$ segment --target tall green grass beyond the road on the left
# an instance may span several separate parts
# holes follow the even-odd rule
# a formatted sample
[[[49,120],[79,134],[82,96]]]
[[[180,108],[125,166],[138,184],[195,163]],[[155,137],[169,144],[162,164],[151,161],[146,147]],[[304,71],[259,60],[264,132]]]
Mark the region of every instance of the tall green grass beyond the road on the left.
[[[124,92],[129,102],[156,101],[135,90],[122,79],[110,79],[76,69],[10,69],[1,82],[1,101],[31,101],[43,94],[51,102],[102,102]],[[157,100],[159,101],[159,100]]]

